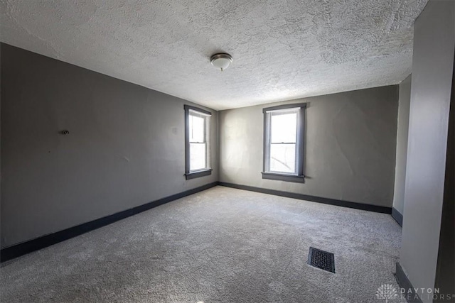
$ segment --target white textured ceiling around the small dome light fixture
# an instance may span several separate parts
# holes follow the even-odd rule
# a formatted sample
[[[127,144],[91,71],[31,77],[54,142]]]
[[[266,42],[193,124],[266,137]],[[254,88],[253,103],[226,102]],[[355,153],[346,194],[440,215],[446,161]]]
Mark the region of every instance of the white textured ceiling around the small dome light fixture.
[[[0,40],[230,109],[399,83],[427,1],[0,0]]]

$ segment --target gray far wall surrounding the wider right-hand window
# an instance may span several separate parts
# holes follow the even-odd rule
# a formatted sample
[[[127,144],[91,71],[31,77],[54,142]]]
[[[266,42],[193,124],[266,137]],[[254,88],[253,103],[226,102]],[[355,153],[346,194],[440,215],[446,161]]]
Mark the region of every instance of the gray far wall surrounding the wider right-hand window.
[[[264,107],[308,102],[304,184],[262,180]],[[398,87],[220,111],[220,181],[392,206]]]

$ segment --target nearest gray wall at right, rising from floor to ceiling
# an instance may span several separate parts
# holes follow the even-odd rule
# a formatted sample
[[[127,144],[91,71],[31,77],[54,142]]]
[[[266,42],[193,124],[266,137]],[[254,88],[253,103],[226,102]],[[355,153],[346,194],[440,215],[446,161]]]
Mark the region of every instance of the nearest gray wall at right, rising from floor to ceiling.
[[[414,287],[434,287],[455,49],[455,1],[430,0],[414,23],[405,216],[400,263]],[[431,298],[422,297],[424,302]]]

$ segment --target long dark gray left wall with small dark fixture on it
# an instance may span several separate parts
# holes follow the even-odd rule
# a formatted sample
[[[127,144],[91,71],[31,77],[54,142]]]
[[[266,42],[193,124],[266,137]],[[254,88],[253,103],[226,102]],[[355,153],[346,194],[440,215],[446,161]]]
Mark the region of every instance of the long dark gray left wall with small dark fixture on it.
[[[5,44],[1,84],[2,248],[218,181],[216,111],[187,181],[189,102]]]

